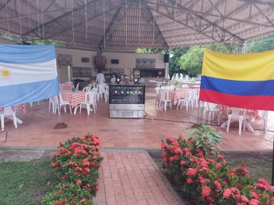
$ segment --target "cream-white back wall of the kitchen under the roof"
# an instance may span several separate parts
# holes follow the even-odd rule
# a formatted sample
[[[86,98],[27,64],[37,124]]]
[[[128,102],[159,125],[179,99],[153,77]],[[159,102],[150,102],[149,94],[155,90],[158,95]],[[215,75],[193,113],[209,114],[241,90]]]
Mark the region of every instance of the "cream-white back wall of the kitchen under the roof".
[[[94,59],[97,53],[95,51],[82,51],[77,49],[56,49],[56,57],[58,54],[72,55],[73,66],[92,68],[92,76],[95,77]],[[164,55],[162,54],[139,54],[139,53],[103,53],[106,58],[106,69],[110,68],[125,68],[125,74],[132,75],[132,68],[136,67],[136,58],[155,58],[156,68],[165,68]],[[82,63],[82,57],[89,57],[90,63]],[[111,64],[111,59],[119,59],[119,64]],[[63,68],[63,67],[62,67]],[[64,76],[64,70],[58,68],[58,75]],[[63,77],[62,77],[63,79]]]

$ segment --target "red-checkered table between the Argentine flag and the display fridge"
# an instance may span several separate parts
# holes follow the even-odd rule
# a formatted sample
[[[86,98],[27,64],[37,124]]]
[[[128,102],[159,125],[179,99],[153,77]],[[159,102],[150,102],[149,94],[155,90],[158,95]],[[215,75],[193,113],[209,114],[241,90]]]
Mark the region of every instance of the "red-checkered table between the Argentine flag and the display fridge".
[[[66,102],[71,103],[71,107],[75,107],[73,113],[77,113],[78,106],[81,102],[85,101],[85,94],[86,92],[83,91],[70,91],[70,90],[60,90],[60,94],[62,96],[62,99]],[[92,111],[92,109],[91,109]]]

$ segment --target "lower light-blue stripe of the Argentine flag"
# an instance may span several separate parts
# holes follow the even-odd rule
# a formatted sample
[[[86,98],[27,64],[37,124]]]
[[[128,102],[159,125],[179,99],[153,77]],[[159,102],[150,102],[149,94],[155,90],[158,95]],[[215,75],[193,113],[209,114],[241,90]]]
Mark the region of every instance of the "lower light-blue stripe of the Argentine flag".
[[[0,107],[44,100],[58,94],[57,77],[48,81],[0,86]]]

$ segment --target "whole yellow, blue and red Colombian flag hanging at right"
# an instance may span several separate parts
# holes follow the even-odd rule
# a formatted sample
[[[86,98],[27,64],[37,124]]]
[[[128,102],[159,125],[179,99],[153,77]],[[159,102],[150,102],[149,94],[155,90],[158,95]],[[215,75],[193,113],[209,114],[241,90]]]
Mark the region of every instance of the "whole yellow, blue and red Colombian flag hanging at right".
[[[234,55],[205,50],[200,100],[274,111],[274,51]]]

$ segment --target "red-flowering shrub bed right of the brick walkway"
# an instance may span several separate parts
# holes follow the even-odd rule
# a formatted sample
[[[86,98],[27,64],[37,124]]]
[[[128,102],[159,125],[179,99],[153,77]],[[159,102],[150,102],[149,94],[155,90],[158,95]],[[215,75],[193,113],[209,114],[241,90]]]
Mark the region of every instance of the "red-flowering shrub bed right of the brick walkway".
[[[255,182],[245,164],[231,167],[217,143],[208,143],[221,142],[213,128],[199,124],[193,130],[188,139],[169,137],[161,145],[164,167],[184,194],[197,204],[274,204],[269,182]]]

